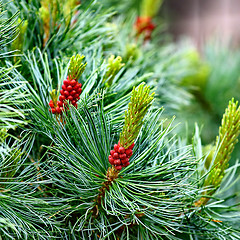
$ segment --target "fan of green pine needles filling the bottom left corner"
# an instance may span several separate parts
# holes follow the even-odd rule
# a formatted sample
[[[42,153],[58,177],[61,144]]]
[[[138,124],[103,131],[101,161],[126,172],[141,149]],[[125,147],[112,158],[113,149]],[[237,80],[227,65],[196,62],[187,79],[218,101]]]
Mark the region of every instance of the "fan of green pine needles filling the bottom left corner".
[[[35,167],[27,163],[33,142],[30,133],[17,140],[5,133],[0,142],[0,235],[3,239],[48,239],[51,234],[46,226],[57,229],[53,224],[57,222],[48,219],[47,199],[37,194],[41,183],[37,181]]]

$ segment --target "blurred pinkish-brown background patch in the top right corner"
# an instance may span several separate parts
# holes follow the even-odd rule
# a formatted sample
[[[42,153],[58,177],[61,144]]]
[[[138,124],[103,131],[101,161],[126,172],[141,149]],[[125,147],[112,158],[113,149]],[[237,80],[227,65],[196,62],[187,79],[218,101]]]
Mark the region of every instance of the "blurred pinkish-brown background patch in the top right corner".
[[[175,40],[188,36],[199,48],[213,36],[239,46],[239,12],[238,0],[167,0],[161,9]]]

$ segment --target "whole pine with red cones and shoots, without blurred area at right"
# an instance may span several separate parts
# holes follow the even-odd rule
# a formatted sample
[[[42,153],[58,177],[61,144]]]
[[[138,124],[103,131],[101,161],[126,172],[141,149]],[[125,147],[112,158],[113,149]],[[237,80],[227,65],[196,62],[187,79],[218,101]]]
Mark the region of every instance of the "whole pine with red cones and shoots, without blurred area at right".
[[[210,150],[176,134],[193,73],[161,3],[0,2],[0,239],[240,239],[238,102]]]

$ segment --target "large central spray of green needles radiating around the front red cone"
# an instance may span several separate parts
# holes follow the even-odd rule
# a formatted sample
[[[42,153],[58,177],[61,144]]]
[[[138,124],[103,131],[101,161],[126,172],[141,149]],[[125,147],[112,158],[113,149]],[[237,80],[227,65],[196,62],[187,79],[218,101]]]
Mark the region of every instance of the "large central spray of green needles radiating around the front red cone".
[[[121,237],[127,231],[134,236],[140,226],[147,225],[149,234],[170,237],[171,230],[178,229],[178,216],[185,201],[191,201],[188,193],[195,191],[191,184],[186,185],[186,174],[195,163],[186,148],[178,154],[181,150],[170,143],[170,126],[163,127],[160,112],[150,116],[139,133],[132,164],[112,179],[109,171],[106,175],[106,155],[117,139],[111,135],[116,126],[101,109],[72,107],[64,128],[52,125],[51,152],[57,168],[51,178],[58,186],[56,194],[70,205],[59,215],[69,214],[76,236],[78,231],[84,237],[87,232],[92,237]],[[103,227],[99,229],[100,222]]]

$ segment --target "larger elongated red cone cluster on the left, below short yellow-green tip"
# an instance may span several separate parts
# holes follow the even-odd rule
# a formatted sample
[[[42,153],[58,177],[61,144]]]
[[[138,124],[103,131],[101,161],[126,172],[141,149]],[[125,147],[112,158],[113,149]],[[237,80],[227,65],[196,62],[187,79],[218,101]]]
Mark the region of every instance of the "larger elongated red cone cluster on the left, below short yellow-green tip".
[[[63,81],[62,89],[60,90],[61,95],[59,96],[59,101],[57,101],[57,106],[55,107],[53,101],[50,100],[50,111],[53,114],[61,114],[64,110],[63,106],[66,104],[67,100],[77,108],[77,101],[80,99],[79,95],[82,92],[81,87],[81,83],[78,83],[75,79],[70,80],[69,77],[67,77],[67,79]]]

